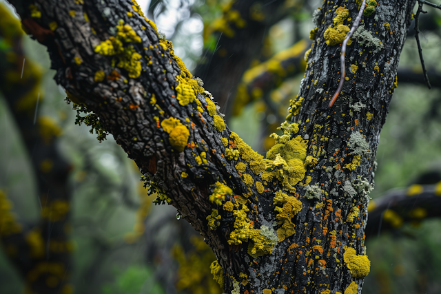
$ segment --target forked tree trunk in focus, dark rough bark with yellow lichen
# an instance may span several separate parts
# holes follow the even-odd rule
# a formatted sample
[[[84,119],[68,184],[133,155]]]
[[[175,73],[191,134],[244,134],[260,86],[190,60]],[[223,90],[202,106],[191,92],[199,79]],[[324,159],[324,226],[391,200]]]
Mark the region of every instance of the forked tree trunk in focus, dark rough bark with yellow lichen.
[[[204,236],[225,292],[361,293],[378,136],[415,1],[370,8],[347,50],[349,79],[333,108],[338,30],[358,4],[327,2],[314,13],[318,30],[299,98],[267,158],[229,132],[136,4],[76,2],[36,1],[37,18],[27,5],[19,12],[48,46],[71,100],[99,117],[161,201]]]

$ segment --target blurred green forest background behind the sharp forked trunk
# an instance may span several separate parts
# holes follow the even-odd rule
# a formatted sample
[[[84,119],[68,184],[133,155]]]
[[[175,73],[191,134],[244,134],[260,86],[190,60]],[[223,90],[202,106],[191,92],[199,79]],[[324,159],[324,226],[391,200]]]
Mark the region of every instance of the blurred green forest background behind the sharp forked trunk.
[[[254,21],[262,21],[263,12],[274,5],[241,2],[248,3]],[[212,68],[218,56],[229,54],[232,46],[243,50],[246,68],[220,72],[239,75],[240,81],[227,89],[220,106],[230,129],[262,154],[271,147],[269,134],[285,120],[289,100],[298,93],[303,55],[315,27],[312,14],[320,6],[320,1],[280,2],[283,13],[258,28],[234,14],[229,1],[139,1],[209,91],[210,83],[223,87],[222,78],[209,81],[210,71],[218,70]],[[420,38],[433,89],[422,80],[411,28],[400,59],[398,89],[381,133],[372,204],[391,189],[416,195],[426,187],[420,185],[441,180],[441,12],[427,10]],[[32,244],[33,255],[59,254],[68,260],[68,277],[54,272],[54,279],[46,280],[54,287],[69,280],[60,288],[62,294],[222,293],[209,272],[214,254],[201,236],[179,220],[174,207],[152,204],[155,196],[147,195],[134,162],[112,136],[98,143],[89,127],[75,125],[76,113],[52,80],[45,48],[21,32],[12,13],[0,0],[0,293],[23,292],[24,280],[14,264],[24,255],[7,238],[18,231]],[[235,40],[228,23],[258,41]],[[258,30],[261,34],[254,34]],[[220,42],[222,34],[226,41]],[[19,99],[21,106],[11,102]],[[41,148],[53,148],[52,155],[35,159],[44,152],[29,145],[32,136],[44,143],[39,143]],[[43,191],[41,181],[61,170],[65,177],[55,177],[56,187]],[[63,221],[57,233],[63,242],[51,231],[51,221],[59,220],[48,220],[41,201],[51,189],[68,191],[65,201],[51,208]],[[393,229],[379,227],[367,238],[371,273],[363,293],[441,293],[441,222],[424,216],[420,213],[412,222],[384,216]]]

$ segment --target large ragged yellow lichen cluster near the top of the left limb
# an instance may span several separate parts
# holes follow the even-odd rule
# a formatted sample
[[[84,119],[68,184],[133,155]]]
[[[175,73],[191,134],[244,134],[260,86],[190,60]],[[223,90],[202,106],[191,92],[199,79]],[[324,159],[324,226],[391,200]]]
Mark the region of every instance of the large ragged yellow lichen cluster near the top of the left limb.
[[[110,36],[109,39],[101,41],[94,51],[106,56],[115,56],[119,59],[117,67],[127,70],[130,78],[138,78],[142,70],[141,55],[134,50],[132,45],[125,45],[125,43],[141,43],[141,37],[122,20],[119,21],[119,25],[116,25],[116,29],[118,30],[116,36]]]

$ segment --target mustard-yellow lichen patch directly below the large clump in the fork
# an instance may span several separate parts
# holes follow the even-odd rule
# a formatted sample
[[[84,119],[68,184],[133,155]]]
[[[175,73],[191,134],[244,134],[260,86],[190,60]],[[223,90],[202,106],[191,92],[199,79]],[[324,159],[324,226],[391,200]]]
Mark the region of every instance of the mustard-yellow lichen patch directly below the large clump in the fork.
[[[281,224],[282,227],[277,229],[278,241],[282,242],[285,238],[294,235],[294,223],[291,219],[302,210],[302,202],[297,200],[294,196],[287,196],[282,191],[274,193],[274,204],[277,205],[274,211],[278,212],[276,218],[277,224]]]

